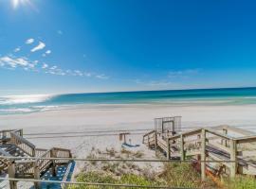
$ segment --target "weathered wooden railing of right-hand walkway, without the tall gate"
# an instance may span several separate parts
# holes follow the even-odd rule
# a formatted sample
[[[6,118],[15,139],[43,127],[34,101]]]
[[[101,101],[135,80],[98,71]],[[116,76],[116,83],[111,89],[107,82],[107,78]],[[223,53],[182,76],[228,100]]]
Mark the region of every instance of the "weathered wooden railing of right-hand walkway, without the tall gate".
[[[231,137],[229,131],[243,134],[243,137]],[[143,143],[147,146],[155,144],[164,151],[168,160],[177,157],[181,160],[188,157],[197,159],[200,156],[202,180],[206,177],[205,161],[208,160],[224,161],[218,164],[228,168],[230,177],[239,173],[256,175],[256,135],[245,136],[248,133],[247,130],[228,126],[192,129],[174,136],[152,130],[143,136]],[[246,160],[251,160],[251,163],[246,163]]]

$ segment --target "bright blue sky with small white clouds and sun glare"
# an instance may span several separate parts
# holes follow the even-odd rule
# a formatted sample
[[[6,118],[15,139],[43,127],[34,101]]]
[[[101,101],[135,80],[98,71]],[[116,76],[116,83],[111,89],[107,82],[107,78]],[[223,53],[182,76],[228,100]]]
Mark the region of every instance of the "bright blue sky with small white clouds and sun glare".
[[[0,0],[0,95],[256,86],[256,2]]]

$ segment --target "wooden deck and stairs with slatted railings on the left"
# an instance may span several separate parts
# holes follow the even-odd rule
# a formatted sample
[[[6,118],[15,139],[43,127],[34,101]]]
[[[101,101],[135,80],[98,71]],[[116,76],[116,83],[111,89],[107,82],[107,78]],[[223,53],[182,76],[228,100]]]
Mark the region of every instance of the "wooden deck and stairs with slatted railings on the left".
[[[23,137],[23,129],[0,130],[0,173],[7,173],[10,179],[41,180],[47,171],[56,176],[58,166],[70,166],[70,161],[46,160],[40,158],[71,158],[69,149],[52,147],[37,148]],[[4,158],[4,157],[7,158]],[[20,158],[20,159],[10,159]],[[26,159],[22,159],[25,157]],[[27,158],[33,157],[29,160]],[[69,170],[68,168],[66,170]],[[64,178],[69,174],[64,173]],[[65,181],[65,180],[64,180]],[[41,188],[40,182],[34,182],[35,189]],[[16,189],[17,181],[9,180],[9,188]],[[62,185],[62,188],[63,185]]]

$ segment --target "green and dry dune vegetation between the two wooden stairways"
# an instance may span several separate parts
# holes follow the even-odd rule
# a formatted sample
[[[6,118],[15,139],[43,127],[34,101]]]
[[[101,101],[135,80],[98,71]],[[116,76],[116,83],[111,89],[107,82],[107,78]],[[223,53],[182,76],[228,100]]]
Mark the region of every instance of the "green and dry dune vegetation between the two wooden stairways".
[[[122,148],[120,151],[106,148],[104,151],[92,149],[88,158],[144,158],[141,151],[130,151]],[[190,188],[210,188],[211,182],[202,183],[200,175],[191,163],[161,163],[161,169],[155,172],[152,164],[131,162],[90,162],[85,164],[82,173],[76,176],[77,181],[101,182],[114,184],[133,184],[143,186],[173,186]],[[206,184],[207,183],[207,184]],[[212,185],[211,185],[212,186]],[[77,185],[70,189],[98,189],[102,186]],[[113,188],[111,186],[104,188]]]

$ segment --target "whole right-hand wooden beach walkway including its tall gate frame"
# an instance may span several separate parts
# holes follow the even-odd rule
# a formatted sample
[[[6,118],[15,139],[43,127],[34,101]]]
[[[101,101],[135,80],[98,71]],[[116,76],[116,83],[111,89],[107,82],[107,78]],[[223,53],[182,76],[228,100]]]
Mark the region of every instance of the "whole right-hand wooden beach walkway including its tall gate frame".
[[[180,116],[156,118],[155,129],[143,136],[143,144],[167,160],[192,160],[202,180],[207,175],[256,176],[256,133],[246,129],[218,126],[183,131]]]

